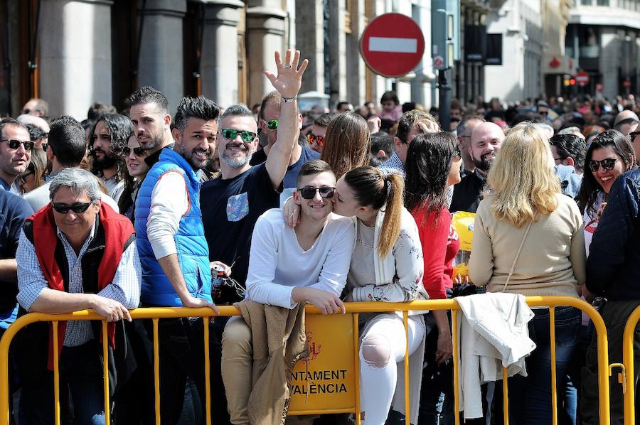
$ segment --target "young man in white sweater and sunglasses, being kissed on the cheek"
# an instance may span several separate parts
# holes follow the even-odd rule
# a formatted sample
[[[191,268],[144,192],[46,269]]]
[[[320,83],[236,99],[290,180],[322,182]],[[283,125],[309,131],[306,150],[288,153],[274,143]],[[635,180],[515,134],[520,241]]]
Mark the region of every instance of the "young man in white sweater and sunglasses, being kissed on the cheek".
[[[311,303],[324,314],[344,313],[338,298],[346,284],[356,232],[353,220],[331,213],[336,176],[328,163],[304,163],[294,201],[300,222],[291,228],[282,210],[268,210],[253,231],[246,298],[292,309]],[[252,332],[231,318],[223,335],[223,382],[231,424],[249,424],[252,391]],[[265,394],[271,397],[271,394]]]

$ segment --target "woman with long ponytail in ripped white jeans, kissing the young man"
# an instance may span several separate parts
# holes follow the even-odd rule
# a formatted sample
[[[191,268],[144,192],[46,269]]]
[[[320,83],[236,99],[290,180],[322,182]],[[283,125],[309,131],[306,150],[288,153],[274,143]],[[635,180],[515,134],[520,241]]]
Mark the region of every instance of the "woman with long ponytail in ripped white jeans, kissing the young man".
[[[403,203],[398,174],[354,168],[336,183],[334,212],[354,217],[356,246],[346,301],[403,302],[427,299],[422,286],[422,246],[415,220]],[[425,322],[410,313],[410,375],[422,375]],[[385,423],[392,405],[405,414],[404,356],[407,341],[400,313],[361,314],[360,379],[363,424]],[[411,422],[417,423],[420,380],[410,380]]]

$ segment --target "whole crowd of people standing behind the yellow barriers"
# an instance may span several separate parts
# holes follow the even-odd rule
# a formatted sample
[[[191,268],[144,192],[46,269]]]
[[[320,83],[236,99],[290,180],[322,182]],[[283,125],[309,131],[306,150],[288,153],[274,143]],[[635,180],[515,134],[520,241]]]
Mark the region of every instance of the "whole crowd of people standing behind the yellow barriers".
[[[137,307],[215,316],[234,304],[242,313],[159,321],[166,424],[205,422],[205,326],[213,423],[348,423],[285,418],[287,370],[306,353],[306,303],[338,314],[345,302],[459,297],[465,313],[475,303],[489,314],[485,328],[519,326],[524,337],[494,333],[495,344],[522,352],[508,378],[517,424],[552,423],[550,313],[511,308],[523,296],[594,303],[609,362],[622,361],[626,318],[640,304],[632,97],[456,100],[452,127],[442,129],[437,109],[400,104],[394,92],[380,108],[301,112],[308,62],[298,51],[274,56],[276,70],[265,70],[274,90],[252,109],[184,97],[172,116],[159,90],[142,87],[121,114],[97,103],[82,122],[49,120],[46,102],[31,99],[16,119],[0,120],[0,335],[28,312],[93,309],[109,323],[107,359],[100,323],[60,323],[62,423],[105,424],[103,362],[112,421],[154,421],[154,328],[132,321]],[[468,276],[454,274],[455,212],[475,213]],[[363,424],[453,424],[459,325],[445,311],[411,311],[407,340],[401,313],[359,318]],[[599,423],[594,338],[580,310],[555,308],[561,424]],[[495,377],[484,367],[474,394],[463,362],[464,419],[501,424],[501,385],[487,383]],[[52,370],[50,324],[33,323],[11,346],[16,424],[53,424]],[[612,381],[610,392],[612,423],[622,424],[622,387]]]

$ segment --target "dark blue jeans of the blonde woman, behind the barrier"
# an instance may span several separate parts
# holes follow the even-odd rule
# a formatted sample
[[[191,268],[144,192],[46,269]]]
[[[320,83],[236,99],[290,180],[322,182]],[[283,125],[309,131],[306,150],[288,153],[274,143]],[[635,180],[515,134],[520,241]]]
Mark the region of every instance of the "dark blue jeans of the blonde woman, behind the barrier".
[[[551,343],[548,308],[533,310],[535,316],[528,323],[529,338],[536,345],[526,359],[527,377],[516,375],[508,380],[509,417],[512,424],[552,424],[551,409]],[[572,355],[580,341],[580,310],[573,307],[555,308],[555,370],[558,389],[558,411],[562,409],[563,380]],[[496,382],[495,420],[503,423],[502,384]],[[568,400],[568,401],[567,401]],[[565,402],[575,404],[575,397]],[[575,411],[576,407],[565,409]]]

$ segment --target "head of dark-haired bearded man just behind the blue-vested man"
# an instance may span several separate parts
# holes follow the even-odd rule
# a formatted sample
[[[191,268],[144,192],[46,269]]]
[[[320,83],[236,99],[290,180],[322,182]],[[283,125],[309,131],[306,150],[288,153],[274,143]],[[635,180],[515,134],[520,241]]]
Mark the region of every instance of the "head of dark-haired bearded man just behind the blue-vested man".
[[[151,168],[158,162],[160,151],[174,144],[169,102],[161,92],[149,86],[136,90],[124,102],[129,107],[129,117],[140,146],[149,151],[144,162]]]

